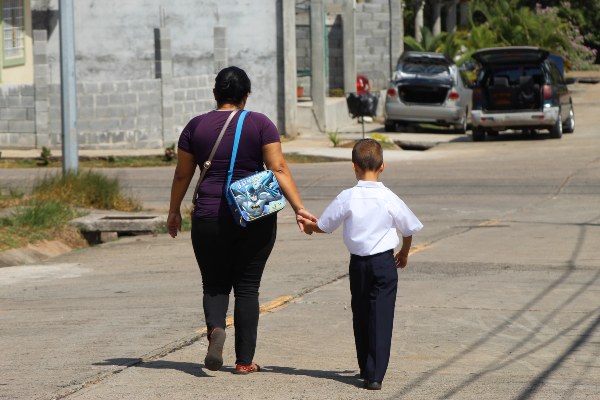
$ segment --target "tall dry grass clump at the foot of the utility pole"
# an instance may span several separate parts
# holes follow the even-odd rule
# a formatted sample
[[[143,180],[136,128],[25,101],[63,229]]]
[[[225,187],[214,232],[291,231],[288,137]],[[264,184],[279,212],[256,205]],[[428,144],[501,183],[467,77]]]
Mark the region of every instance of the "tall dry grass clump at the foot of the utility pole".
[[[118,179],[94,171],[47,175],[34,183],[32,197],[100,210],[138,211],[142,208],[139,200],[121,193]]]

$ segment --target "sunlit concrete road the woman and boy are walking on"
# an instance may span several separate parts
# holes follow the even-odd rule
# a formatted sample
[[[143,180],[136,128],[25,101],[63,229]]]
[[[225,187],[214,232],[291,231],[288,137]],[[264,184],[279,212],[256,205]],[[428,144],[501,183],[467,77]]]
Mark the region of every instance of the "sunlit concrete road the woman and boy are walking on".
[[[288,210],[261,290],[262,303],[292,299],[261,318],[267,373],[231,374],[231,329],[225,370],[202,368],[189,241],[144,236],[0,269],[0,399],[600,398],[600,97],[590,93],[561,140],[458,141],[388,163],[384,182],[425,228],[401,271],[382,392],[356,377],[340,234],[301,236]],[[347,162],[293,170],[316,213],[354,183]],[[116,173],[165,206],[171,170]]]

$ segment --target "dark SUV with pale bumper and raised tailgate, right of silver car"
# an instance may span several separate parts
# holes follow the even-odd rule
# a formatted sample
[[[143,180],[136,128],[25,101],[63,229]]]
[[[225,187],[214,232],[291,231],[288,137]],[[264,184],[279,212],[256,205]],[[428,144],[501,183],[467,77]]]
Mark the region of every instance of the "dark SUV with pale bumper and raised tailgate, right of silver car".
[[[547,129],[551,138],[575,130],[562,58],[538,47],[496,47],[473,54],[473,140],[508,129]]]

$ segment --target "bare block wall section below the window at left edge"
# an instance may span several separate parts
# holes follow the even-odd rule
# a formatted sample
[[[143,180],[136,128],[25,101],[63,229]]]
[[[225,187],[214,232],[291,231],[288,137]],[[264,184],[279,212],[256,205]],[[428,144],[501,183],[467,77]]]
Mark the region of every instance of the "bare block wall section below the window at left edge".
[[[36,145],[33,85],[0,85],[0,146]]]

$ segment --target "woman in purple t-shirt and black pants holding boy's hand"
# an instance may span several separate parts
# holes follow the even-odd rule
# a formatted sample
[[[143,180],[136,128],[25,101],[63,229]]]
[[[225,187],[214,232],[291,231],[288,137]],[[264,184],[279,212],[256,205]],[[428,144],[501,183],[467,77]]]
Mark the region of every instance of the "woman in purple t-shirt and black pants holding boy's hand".
[[[246,73],[228,67],[215,79],[213,94],[217,109],[193,118],[179,138],[177,167],[171,187],[171,204],[167,228],[172,237],[181,230],[181,202],[197,165],[202,165],[234,110],[242,110],[250,94]],[[253,362],[258,328],[258,291],[267,258],[273,249],[277,232],[277,216],[238,226],[224,196],[227,171],[231,159],[238,115],[228,125],[210,168],[198,188],[192,213],[192,245],[202,274],[203,306],[208,328],[208,352],[205,366],[216,371],[223,365],[225,316],[229,293],[235,296],[235,373],[248,374],[260,370]],[[246,115],[232,182],[263,169],[273,171],[279,186],[300,217],[316,220],[302,205],[294,179],[281,151],[279,132],[263,114]]]

